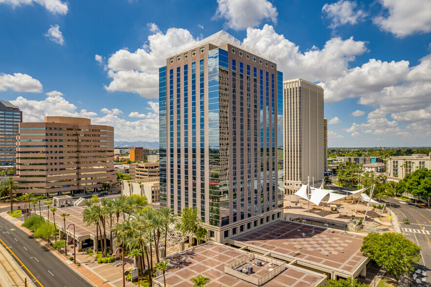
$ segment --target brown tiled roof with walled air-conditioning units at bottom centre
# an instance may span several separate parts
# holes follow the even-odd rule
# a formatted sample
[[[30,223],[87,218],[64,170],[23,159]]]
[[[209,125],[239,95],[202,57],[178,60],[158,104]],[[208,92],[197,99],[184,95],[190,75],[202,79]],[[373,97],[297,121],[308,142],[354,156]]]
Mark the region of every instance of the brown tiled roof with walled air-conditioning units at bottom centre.
[[[215,242],[208,242],[193,249],[187,249],[167,258],[172,268],[166,270],[166,286],[192,287],[191,278],[202,274],[204,277],[211,279],[207,285],[208,287],[254,287],[256,285],[244,279],[249,281],[262,279],[279,266],[281,266],[279,268],[280,272],[269,276],[271,279],[261,286],[314,287],[326,280],[326,276],[322,274],[287,265],[284,262],[278,262],[278,260],[265,256],[259,256],[262,259],[263,266],[257,266],[255,264],[255,255]],[[244,260],[246,261],[241,264],[241,267],[252,266],[253,273],[244,274],[231,267],[231,265],[240,266],[238,261]],[[158,283],[155,286],[164,286],[163,276],[158,276],[154,281]]]

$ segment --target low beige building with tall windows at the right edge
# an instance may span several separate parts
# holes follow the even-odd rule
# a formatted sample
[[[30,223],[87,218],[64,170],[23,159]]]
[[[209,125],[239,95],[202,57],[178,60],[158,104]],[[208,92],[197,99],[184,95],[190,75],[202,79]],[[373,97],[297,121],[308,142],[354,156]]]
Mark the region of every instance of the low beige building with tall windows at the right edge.
[[[411,156],[395,156],[386,159],[386,175],[403,179],[419,168],[431,169],[431,153],[412,154]]]

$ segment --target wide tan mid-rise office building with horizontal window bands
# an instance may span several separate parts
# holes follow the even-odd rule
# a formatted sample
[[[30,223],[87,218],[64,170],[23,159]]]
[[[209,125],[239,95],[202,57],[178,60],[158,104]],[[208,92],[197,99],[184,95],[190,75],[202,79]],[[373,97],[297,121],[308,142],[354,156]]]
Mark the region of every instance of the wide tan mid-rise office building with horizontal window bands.
[[[17,193],[75,192],[115,184],[114,128],[71,117],[20,123],[17,174]]]

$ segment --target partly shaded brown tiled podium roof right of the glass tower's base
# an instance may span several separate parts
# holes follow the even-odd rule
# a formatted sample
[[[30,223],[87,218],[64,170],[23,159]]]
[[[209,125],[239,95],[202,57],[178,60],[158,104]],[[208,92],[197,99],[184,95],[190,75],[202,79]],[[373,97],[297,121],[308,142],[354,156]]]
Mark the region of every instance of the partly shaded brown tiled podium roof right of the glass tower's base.
[[[332,230],[314,225],[278,220],[258,229],[227,240],[234,246],[267,252],[298,264],[311,263],[313,268],[324,271],[337,270],[343,277],[357,275],[369,259],[360,248],[364,235]],[[300,255],[294,256],[296,251]]]

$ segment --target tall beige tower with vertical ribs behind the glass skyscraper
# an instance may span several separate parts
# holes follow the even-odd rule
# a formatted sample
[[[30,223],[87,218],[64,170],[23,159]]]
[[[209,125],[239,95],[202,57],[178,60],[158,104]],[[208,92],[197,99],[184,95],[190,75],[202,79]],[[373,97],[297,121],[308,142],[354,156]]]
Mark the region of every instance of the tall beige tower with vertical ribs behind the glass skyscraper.
[[[284,189],[320,185],[324,178],[323,88],[302,79],[283,81]]]

